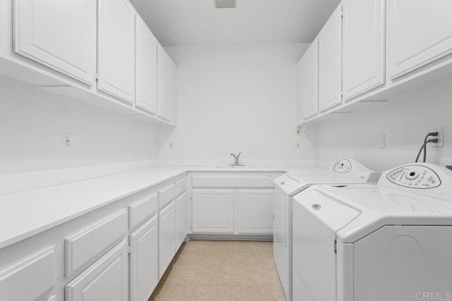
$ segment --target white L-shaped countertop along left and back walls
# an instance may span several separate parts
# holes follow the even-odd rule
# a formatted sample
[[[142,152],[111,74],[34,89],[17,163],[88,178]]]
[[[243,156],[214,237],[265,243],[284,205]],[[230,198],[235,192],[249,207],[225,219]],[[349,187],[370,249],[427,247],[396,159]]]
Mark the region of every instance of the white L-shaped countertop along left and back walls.
[[[0,249],[188,171],[301,171],[302,166],[155,166],[0,196]]]

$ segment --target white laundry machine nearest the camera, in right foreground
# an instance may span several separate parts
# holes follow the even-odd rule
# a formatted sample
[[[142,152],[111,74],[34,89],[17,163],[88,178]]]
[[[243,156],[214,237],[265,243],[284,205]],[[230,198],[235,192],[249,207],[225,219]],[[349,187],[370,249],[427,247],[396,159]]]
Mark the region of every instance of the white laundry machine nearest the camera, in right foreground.
[[[293,202],[294,300],[452,300],[452,171],[313,186]]]

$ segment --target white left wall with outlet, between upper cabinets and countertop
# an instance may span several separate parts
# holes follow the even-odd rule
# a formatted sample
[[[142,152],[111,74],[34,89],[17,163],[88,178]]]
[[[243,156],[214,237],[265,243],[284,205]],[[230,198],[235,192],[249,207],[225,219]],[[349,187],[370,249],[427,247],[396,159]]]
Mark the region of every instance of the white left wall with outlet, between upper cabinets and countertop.
[[[0,174],[152,160],[156,145],[155,125],[0,77]]]

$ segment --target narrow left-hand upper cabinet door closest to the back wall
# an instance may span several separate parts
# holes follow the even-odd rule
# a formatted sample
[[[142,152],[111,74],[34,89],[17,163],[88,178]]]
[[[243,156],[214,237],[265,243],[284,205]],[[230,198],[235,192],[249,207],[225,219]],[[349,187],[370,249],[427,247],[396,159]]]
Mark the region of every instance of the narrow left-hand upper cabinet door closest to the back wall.
[[[175,113],[176,76],[176,66],[165,49],[159,45],[157,116],[172,123]]]

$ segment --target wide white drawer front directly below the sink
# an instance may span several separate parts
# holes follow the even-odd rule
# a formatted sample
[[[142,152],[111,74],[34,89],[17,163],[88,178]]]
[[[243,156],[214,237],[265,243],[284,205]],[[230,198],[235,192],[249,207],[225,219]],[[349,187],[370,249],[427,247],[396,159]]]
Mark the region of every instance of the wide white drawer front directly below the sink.
[[[193,188],[273,188],[273,176],[261,177],[193,177]]]

